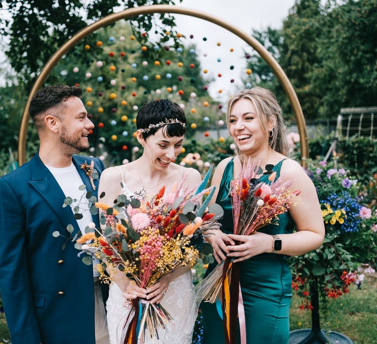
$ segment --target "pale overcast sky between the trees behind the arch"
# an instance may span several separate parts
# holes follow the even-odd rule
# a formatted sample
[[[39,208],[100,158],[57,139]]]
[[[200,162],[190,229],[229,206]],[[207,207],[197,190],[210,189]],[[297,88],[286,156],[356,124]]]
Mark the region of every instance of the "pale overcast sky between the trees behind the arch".
[[[295,0],[183,0],[177,5],[207,12],[251,34],[252,29],[281,28],[294,3]],[[244,51],[251,52],[251,48],[235,34],[215,24],[183,15],[176,15],[176,18],[178,31],[187,37],[194,35],[202,69],[208,69],[207,75],[215,78],[210,88],[211,95],[226,101],[229,94],[242,87],[241,79],[246,70]],[[207,40],[203,41],[203,37]],[[217,46],[218,42],[220,46]],[[232,53],[230,48],[234,49]],[[220,78],[218,73],[221,73]],[[235,80],[233,84],[231,79]],[[218,93],[219,89],[222,93]]]

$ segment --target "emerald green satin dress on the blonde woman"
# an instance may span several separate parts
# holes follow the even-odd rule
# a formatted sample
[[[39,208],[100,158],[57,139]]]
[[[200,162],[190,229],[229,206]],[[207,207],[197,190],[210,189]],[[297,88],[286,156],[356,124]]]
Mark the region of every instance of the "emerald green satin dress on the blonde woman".
[[[273,171],[279,176],[283,160]],[[229,185],[233,179],[233,159],[226,165],[216,203],[224,209],[222,230],[233,233],[233,216]],[[268,175],[262,177],[268,183]],[[268,225],[259,231],[267,234],[291,233],[294,222],[289,213],[279,216],[278,226]],[[239,262],[240,284],[245,311],[247,344],[287,344],[289,308],[292,297],[292,275],[284,255],[264,253]],[[207,276],[217,265],[209,265]],[[215,304],[201,304],[204,333],[203,344],[225,343],[223,324]],[[238,343],[240,343],[240,331]]]

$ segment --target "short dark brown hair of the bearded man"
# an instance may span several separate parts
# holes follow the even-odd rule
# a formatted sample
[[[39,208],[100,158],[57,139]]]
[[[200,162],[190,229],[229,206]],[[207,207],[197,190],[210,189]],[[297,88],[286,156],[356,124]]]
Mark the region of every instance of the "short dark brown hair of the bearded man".
[[[78,86],[52,85],[37,91],[30,100],[29,114],[37,129],[40,128],[40,121],[36,118],[46,110],[54,108],[61,102],[67,101],[69,97],[81,98],[82,91]]]

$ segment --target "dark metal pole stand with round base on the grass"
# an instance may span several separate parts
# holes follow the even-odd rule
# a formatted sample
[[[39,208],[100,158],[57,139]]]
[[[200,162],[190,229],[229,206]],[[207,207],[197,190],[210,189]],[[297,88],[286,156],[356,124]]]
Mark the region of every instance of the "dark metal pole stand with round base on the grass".
[[[312,299],[312,328],[291,331],[288,344],[353,344],[350,338],[338,332],[321,330],[320,323],[320,302],[317,281],[310,284],[310,294]]]

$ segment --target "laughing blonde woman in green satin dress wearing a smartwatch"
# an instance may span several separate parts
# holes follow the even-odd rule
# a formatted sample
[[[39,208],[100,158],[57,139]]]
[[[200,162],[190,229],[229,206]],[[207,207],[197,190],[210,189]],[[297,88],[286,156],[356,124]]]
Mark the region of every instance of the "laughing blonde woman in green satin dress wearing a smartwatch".
[[[226,115],[239,154],[216,168],[213,200],[223,207],[224,217],[222,232],[215,232],[209,241],[217,262],[232,257],[240,264],[247,344],[288,343],[292,276],[286,256],[302,255],[322,245],[324,227],[316,189],[301,166],[288,158],[282,111],[272,92],[261,87],[245,89],[229,100]],[[279,216],[278,226],[268,225],[254,235],[233,235],[229,185],[248,158],[262,166],[274,165],[276,177],[294,179],[291,189],[301,190],[300,202]],[[268,175],[265,177],[263,181],[268,183]],[[235,245],[236,241],[240,244]],[[208,267],[206,275],[215,265]],[[203,343],[225,343],[216,306],[204,303],[202,311]]]

